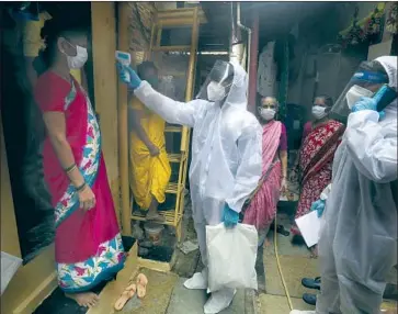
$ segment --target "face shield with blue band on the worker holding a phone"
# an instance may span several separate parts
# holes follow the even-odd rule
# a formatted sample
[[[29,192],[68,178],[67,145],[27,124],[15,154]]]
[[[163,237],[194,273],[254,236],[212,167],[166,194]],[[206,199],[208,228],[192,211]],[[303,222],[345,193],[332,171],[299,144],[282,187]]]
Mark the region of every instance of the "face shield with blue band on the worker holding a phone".
[[[345,121],[356,101],[362,97],[373,97],[384,83],[388,83],[388,76],[379,63],[361,63],[332,106],[330,117]]]

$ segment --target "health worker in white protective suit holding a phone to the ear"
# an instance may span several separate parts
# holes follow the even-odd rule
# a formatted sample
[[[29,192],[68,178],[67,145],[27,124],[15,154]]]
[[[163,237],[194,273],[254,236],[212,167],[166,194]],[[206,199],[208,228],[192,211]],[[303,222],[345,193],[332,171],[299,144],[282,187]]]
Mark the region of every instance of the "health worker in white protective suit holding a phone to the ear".
[[[379,113],[372,97],[383,83],[397,88],[397,61],[362,63],[332,109],[352,113],[323,212],[320,295],[316,312],[292,313],[380,313],[397,263],[397,99]]]

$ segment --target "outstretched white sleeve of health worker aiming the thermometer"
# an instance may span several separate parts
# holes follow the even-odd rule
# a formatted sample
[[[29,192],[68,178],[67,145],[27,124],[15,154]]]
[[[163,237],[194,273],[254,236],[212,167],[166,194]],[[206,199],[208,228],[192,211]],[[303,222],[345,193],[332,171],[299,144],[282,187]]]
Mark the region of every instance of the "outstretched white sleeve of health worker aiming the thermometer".
[[[172,100],[160,92],[157,92],[146,81],[141,82],[134,91],[134,94],[147,108],[155,111],[168,123],[181,124],[190,127],[194,126],[196,114],[205,103],[203,100],[193,100],[186,103]]]

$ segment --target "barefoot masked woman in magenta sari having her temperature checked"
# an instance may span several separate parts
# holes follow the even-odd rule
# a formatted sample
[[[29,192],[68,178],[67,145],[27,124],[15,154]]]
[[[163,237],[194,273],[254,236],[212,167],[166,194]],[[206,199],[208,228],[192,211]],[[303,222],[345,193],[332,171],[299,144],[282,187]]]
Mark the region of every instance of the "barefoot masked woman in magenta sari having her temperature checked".
[[[94,306],[90,290],[123,268],[125,254],[90,100],[70,75],[88,59],[87,25],[70,15],[42,30],[48,69],[34,90],[47,136],[44,177],[55,209],[58,284],[81,306]]]

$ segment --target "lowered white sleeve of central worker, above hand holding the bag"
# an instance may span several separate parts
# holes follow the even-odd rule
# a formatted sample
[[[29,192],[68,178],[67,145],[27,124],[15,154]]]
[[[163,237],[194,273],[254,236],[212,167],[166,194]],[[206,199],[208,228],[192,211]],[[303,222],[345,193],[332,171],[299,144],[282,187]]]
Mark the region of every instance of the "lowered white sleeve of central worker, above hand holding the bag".
[[[238,139],[240,164],[235,178],[231,198],[226,200],[230,209],[240,213],[246,200],[255,190],[262,171],[262,128],[251,124]]]

